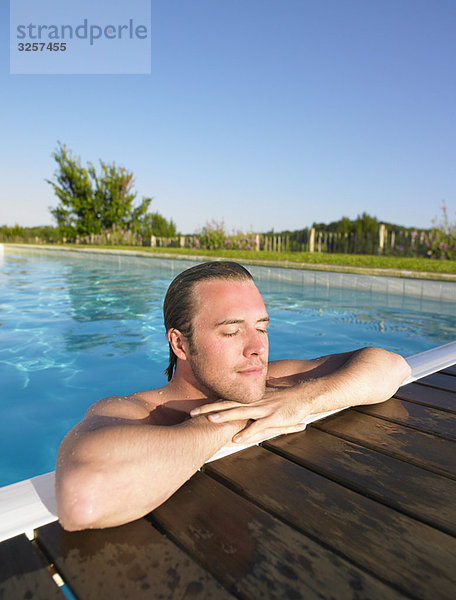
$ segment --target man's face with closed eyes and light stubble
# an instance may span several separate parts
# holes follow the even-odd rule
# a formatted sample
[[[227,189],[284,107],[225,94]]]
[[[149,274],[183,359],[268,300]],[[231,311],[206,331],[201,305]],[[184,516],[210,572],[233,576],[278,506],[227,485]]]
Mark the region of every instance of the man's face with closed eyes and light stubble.
[[[255,284],[202,281],[194,298],[188,360],[198,386],[215,398],[259,400],[266,383],[269,318]]]

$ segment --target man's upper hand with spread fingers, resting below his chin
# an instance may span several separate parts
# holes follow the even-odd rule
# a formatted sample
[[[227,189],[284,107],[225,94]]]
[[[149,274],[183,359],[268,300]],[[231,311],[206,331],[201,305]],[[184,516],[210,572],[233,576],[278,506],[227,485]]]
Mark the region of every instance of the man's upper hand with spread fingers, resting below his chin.
[[[248,420],[247,426],[233,437],[236,444],[254,444],[275,435],[296,433],[309,414],[303,385],[267,390],[263,398],[250,404],[222,400],[205,404],[190,412],[192,417],[207,415],[212,423]]]

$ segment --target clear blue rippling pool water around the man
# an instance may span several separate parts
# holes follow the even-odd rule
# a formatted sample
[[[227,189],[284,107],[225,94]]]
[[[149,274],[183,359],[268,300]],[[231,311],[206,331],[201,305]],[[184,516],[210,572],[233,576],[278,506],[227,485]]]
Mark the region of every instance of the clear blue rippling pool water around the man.
[[[98,398],[162,385],[162,301],[189,266],[7,248],[0,268],[0,485],[53,470],[64,434]],[[271,359],[379,345],[405,356],[456,338],[455,305],[257,280]]]

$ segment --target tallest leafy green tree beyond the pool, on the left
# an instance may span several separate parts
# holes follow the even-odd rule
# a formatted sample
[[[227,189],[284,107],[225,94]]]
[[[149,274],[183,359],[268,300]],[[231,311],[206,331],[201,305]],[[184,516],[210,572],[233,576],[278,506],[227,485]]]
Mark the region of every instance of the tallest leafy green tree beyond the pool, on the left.
[[[56,181],[47,179],[60,200],[50,208],[59,232],[67,238],[100,234],[113,228],[138,231],[152,201],[143,198],[134,206],[133,173],[115,163],[100,160],[100,173],[93,164],[84,168],[79,157],[58,143],[53,153],[57,162]]]

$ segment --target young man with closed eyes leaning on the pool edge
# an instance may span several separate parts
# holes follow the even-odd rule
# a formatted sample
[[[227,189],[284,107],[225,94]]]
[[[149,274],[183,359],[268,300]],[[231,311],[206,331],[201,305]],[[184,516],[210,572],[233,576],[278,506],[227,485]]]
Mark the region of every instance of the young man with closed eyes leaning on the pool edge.
[[[382,402],[410,373],[380,348],[269,363],[266,308],[237,263],[178,275],[164,318],[168,383],[100,400],[62,442],[56,496],[65,529],[137,519],[223,446],[301,431],[309,414]]]

